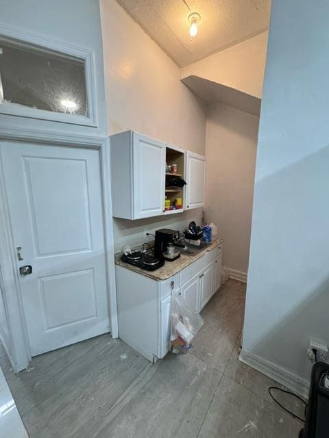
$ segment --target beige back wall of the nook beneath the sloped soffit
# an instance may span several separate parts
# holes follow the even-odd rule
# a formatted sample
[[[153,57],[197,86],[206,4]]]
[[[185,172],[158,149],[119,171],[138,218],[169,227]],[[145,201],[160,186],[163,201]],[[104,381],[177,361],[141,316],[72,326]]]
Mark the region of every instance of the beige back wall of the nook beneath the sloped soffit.
[[[225,240],[223,264],[241,272],[248,266],[258,121],[221,103],[208,107],[206,220]]]

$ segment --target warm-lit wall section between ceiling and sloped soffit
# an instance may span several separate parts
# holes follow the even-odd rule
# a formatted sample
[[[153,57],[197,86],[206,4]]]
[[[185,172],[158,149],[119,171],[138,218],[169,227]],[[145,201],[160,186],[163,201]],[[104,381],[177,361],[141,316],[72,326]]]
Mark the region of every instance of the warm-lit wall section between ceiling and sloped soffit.
[[[181,77],[191,75],[221,83],[260,98],[263,90],[268,32],[210,55],[182,68]]]

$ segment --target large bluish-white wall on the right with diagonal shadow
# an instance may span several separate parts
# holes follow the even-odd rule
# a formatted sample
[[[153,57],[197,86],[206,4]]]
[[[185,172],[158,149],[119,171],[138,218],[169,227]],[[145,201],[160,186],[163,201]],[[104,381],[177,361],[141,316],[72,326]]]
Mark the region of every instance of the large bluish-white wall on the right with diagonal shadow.
[[[306,381],[308,342],[329,344],[328,17],[272,3],[243,329],[244,350]]]

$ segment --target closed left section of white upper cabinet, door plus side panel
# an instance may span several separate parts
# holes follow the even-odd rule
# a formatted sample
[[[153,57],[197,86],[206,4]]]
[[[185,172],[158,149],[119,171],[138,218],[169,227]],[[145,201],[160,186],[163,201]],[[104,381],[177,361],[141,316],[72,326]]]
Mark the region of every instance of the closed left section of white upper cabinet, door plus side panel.
[[[164,213],[166,145],[133,131],[110,137],[113,216]]]

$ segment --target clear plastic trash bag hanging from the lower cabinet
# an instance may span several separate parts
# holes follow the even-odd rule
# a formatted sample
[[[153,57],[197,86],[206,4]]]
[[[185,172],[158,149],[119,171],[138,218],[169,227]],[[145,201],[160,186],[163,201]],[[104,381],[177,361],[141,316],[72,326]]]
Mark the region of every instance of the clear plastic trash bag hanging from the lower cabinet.
[[[173,292],[171,296],[171,352],[184,355],[192,348],[192,339],[204,324],[204,319],[182,298]]]

